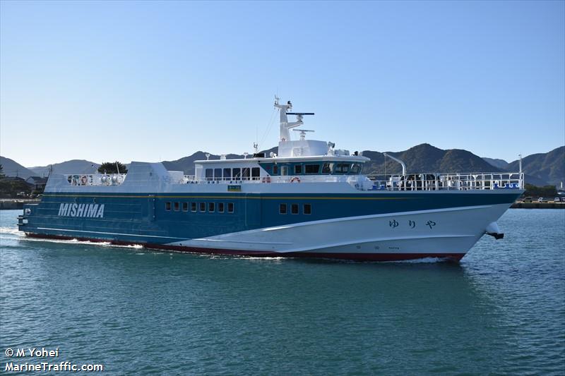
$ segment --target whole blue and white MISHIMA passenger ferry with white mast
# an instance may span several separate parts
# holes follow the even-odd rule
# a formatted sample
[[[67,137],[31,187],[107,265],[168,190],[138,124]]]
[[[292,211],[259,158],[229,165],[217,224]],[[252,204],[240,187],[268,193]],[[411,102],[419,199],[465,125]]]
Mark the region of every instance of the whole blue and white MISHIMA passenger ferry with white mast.
[[[523,174],[420,174],[380,180],[369,158],[307,140],[280,104],[278,153],[195,162],[195,175],[132,162],[127,174],[52,174],[18,217],[38,238],[193,253],[348,260],[460,260],[523,193]],[[296,116],[289,121],[288,116]],[[72,171],[70,171],[72,172]]]

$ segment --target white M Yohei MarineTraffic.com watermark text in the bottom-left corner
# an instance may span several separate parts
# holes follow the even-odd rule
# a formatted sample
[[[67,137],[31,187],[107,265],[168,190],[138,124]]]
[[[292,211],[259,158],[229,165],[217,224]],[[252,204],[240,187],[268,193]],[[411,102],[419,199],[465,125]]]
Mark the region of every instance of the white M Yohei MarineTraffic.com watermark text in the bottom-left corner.
[[[102,372],[102,364],[76,364],[59,360],[59,348],[11,348],[4,350],[8,358],[4,372]]]

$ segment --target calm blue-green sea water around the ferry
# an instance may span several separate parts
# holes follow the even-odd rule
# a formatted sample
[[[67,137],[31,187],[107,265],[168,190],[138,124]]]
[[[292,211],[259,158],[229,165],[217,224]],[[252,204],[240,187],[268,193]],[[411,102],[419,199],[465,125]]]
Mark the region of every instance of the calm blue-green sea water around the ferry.
[[[109,375],[565,373],[565,210],[509,210],[460,264],[38,241],[19,213],[0,212],[0,372],[45,347]]]

